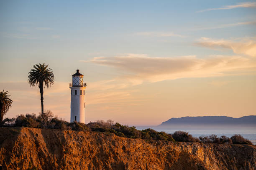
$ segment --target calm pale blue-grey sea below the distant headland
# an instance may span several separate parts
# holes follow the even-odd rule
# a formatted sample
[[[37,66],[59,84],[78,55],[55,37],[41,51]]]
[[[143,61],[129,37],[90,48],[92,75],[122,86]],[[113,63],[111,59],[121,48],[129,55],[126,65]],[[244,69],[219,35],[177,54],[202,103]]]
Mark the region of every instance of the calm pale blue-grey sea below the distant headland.
[[[209,125],[209,124],[201,124],[201,125],[169,125],[169,126],[136,126],[138,130],[143,130],[147,128],[154,129],[156,131],[164,131],[166,133],[174,133],[175,131],[182,130],[185,132],[189,132],[194,137],[200,137],[202,135],[211,135],[215,134],[218,137],[225,135],[231,137],[235,134],[240,134],[244,138],[251,140],[251,142],[256,145],[256,125]]]

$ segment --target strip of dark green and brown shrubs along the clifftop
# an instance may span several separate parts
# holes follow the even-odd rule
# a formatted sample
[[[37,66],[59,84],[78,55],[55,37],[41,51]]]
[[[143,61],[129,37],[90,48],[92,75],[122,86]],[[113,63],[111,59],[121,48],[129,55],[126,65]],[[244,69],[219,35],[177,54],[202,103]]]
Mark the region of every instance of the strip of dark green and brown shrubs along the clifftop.
[[[233,135],[231,138],[217,135],[200,136],[195,138],[188,132],[176,131],[173,134],[165,132],[157,132],[153,129],[137,130],[136,127],[128,125],[120,125],[112,120],[90,122],[87,125],[80,122],[67,122],[59,117],[54,117],[50,110],[36,114],[18,115],[15,118],[6,118],[3,120],[2,127],[28,127],[28,128],[48,128],[59,130],[77,130],[77,131],[97,131],[105,133],[114,133],[120,137],[126,138],[141,138],[145,140],[167,140],[172,142],[198,142],[198,143],[222,143],[222,144],[248,144],[252,145],[251,141],[243,138],[241,135]]]

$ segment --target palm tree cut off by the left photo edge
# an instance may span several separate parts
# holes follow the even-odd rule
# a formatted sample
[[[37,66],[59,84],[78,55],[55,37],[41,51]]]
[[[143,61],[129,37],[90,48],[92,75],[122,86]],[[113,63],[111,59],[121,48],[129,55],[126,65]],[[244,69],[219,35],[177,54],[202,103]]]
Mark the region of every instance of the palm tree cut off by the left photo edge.
[[[10,96],[7,95],[8,91],[1,92],[0,91],[0,122],[3,122],[3,116],[5,115],[5,113],[8,112],[8,110],[10,109],[10,107],[12,107],[12,102],[13,100],[10,99]]]

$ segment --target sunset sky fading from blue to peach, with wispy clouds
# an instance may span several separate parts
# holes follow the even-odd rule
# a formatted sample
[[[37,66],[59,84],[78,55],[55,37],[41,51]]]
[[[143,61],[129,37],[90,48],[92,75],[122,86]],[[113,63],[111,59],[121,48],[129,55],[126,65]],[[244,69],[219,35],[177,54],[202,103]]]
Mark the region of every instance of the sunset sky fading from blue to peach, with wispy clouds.
[[[256,115],[256,0],[0,1],[5,117],[41,111],[38,63],[55,77],[44,108],[67,121],[77,67],[86,123]]]

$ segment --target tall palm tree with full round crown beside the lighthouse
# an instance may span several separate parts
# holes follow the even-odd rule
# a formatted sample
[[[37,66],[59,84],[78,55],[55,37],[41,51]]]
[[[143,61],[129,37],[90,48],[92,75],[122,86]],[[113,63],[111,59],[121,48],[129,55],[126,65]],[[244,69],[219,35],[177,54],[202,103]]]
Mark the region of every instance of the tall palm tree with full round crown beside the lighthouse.
[[[40,94],[41,94],[41,113],[44,113],[44,88],[51,87],[54,83],[54,75],[50,68],[47,68],[48,65],[36,64],[33,65],[34,69],[31,69],[28,72],[28,83],[31,87],[38,85]]]

